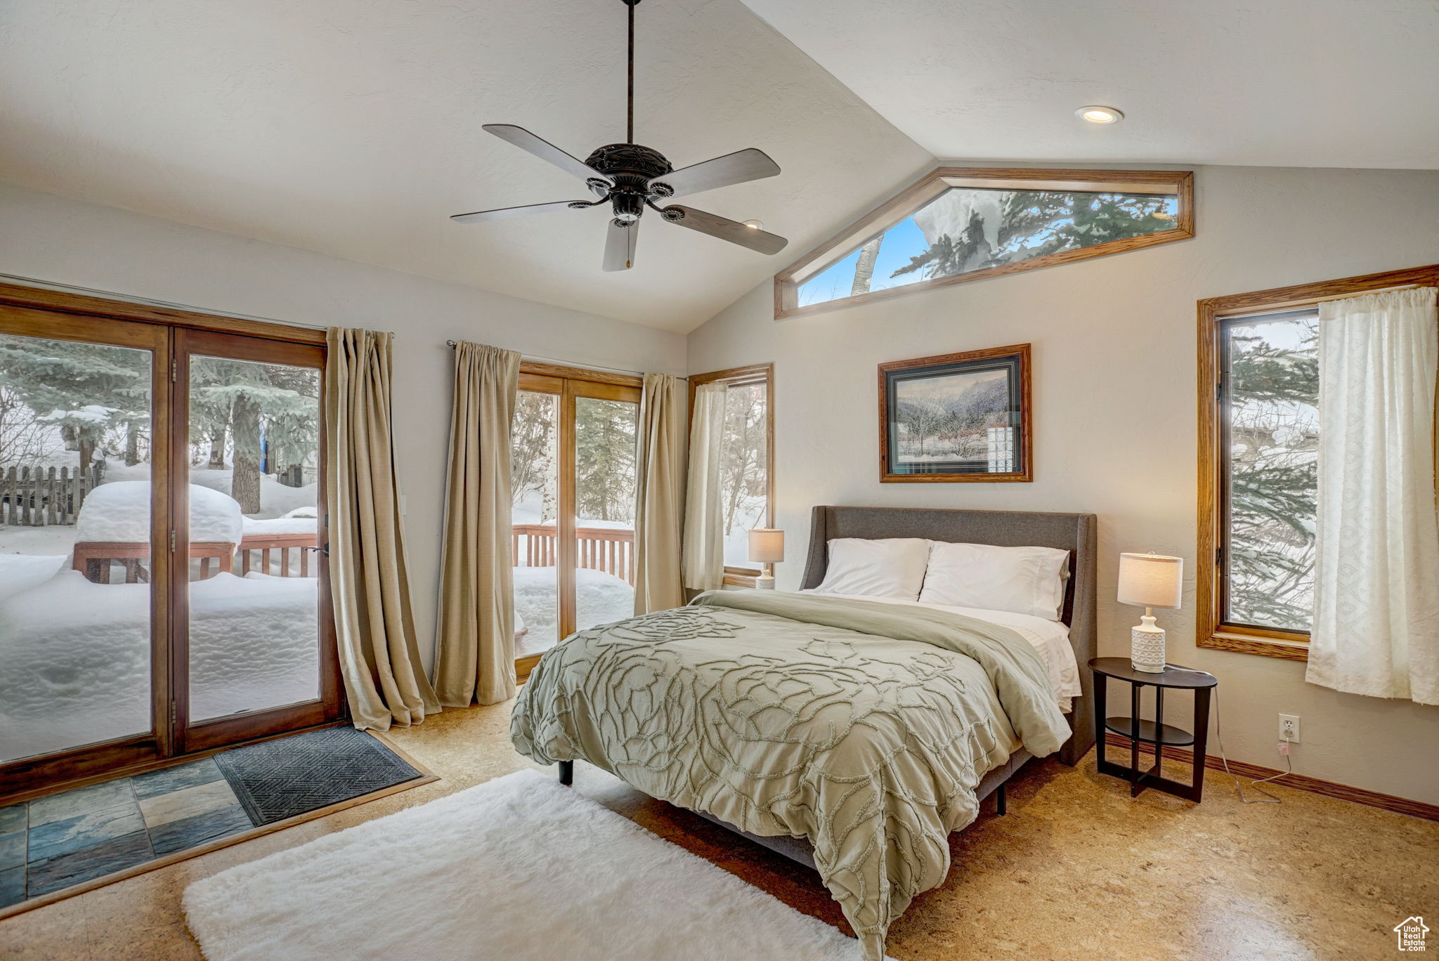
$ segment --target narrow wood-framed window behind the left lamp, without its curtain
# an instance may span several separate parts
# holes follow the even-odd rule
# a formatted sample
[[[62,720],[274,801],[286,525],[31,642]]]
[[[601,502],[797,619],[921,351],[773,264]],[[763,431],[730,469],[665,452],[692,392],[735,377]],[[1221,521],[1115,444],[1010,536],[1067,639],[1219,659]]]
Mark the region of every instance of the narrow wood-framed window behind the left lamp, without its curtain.
[[[755,364],[696,374],[689,378],[691,410],[694,388],[724,381],[724,443],[720,450],[720,495],[722,499],[725,581],[747,584],[760,574],[750,561],[750,529],[774,525],[774,365]]]

